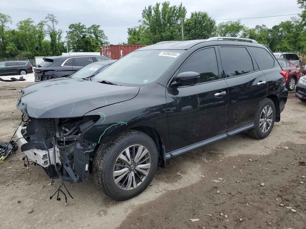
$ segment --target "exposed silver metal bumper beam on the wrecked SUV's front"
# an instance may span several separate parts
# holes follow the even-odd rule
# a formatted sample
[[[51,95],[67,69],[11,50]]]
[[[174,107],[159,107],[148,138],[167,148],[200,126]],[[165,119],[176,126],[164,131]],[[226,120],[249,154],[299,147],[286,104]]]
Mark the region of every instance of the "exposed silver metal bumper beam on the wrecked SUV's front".
[[[18,136],[18,145],[21,148],[21,146],[25,143],[27,143],[27,140],[23,138],[22,136],[23,132],[23,127],[19,127],[17,129],[17,136]],[[55,153],[56,153],[56,162],[60,163],[59,159],[59,150],[57,147],[55,147]],[[47,150],[39,150],[39,149],[32,149],[32,150],[27,150],[24,151],[24,154],[28,156],[29,159],[31,159],[33,162],[37,163],[38,165],[43,166],[44,168],[48,167],[49,164],[49,157],[48,157],[48,152]],[[51,165],[54,164],[54,151],[53,148],[49,149],[49,154],[50,154],[50,162]]]

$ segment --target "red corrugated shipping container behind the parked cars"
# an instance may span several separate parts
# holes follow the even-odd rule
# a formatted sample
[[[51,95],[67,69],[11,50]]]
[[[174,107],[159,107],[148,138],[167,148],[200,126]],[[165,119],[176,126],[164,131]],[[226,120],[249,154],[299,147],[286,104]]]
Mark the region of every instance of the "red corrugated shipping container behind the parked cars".
[[[100,55],[118,60],[130,52],[147,45],[105,45],[100,46]]]

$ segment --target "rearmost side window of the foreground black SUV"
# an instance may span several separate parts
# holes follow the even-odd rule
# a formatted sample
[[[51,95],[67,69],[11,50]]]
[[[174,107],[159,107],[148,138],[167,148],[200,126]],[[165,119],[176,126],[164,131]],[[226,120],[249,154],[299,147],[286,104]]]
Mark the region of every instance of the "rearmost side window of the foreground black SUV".
[[[274,65],[273,57],[266,49],[257,47],[248,47],[255,58],[259,69],[270,68]]]

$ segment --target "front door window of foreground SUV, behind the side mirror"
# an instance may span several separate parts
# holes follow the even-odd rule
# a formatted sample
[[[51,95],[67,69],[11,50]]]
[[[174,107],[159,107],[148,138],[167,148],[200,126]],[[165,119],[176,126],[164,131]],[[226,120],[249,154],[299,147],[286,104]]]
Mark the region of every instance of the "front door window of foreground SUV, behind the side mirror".
[[[179,73],[184,71],[200,73],[199,83],[219,79],[215,49],[203,49],[193,54],[180,69]]]

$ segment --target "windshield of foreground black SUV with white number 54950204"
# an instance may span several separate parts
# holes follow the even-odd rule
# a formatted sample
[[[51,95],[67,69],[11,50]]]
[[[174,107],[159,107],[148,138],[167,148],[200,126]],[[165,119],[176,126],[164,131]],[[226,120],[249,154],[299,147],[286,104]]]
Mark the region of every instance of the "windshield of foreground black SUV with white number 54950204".
[[[157,80],[184,50],[141,50],[129,53],[95,75],[93,81],[147,84]]]

